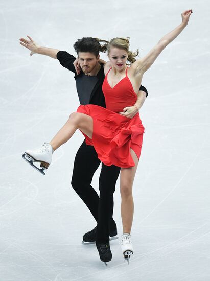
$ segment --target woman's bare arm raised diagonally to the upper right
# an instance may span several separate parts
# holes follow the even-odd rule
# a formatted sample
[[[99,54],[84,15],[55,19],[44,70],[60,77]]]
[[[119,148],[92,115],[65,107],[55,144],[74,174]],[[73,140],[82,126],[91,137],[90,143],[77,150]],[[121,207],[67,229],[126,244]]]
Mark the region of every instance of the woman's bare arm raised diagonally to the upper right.
[[[162,37],[154,48],[142,59],[137,60],[132,64],[132,68],[135,68],[135,74],[144,74],[150,66],[154,63],[159,54],[170,44],[188,25],[189,18],[192,14],[192,10],[187,10],[181,14],[182,22],[170,33]]]

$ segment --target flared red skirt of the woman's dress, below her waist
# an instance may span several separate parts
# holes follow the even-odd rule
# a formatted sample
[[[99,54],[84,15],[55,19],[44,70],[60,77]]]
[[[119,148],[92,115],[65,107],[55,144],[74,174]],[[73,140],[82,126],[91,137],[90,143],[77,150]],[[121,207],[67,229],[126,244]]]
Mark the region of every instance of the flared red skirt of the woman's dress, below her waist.
[[[93,145],[98,158],[107,166],[122,168],[135,166],[130,154],[133,149],[141,155],[144,126],[137,113],[132,119],[98,105],[80,105],[77,112],[92,117],[92,139],[83,133],[87,145]]]

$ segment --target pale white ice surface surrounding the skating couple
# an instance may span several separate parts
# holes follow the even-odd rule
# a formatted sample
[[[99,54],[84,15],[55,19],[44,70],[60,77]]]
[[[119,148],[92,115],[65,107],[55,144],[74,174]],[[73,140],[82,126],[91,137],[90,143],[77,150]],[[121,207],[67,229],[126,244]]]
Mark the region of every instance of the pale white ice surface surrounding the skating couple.
[[[0,280],[210,280],[209,1],[2,0],[0,8]],[[143,57],[191,8],[188,27],[143,78],[149,96],[133,186],[135,252],[127,266],[113,240],[105,267],[95,244],[81,243],[96,222],[71,188],[82,134],[56,151],[46,176],[21,158],[49,141],[79,101],[74,75],[57,60],[30,57],[19,38],[75,54],[81,37],[130,36]],[[118,182],[118,237],[120,202]]]

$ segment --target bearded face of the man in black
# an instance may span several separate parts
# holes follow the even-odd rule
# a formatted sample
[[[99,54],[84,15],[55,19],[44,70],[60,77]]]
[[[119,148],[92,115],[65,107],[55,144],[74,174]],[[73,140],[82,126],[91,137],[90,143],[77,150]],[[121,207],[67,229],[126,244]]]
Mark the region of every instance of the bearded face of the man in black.
[[[94,54],[89,52],[79,52],[78,58],[80,67],[85,74],[90,73],[99,62],[99,56],[96,57]]]

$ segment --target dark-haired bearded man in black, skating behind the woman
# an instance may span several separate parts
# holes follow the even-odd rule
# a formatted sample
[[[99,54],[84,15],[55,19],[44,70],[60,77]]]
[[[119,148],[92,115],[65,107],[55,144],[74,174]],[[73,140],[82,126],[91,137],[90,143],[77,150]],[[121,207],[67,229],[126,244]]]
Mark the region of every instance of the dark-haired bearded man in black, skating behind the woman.
[[[78,39],[74,44],[77,52],[81,71],[77,74],[74,66],[76,57],[57,49],[37,45],[30,36],[28,39],[20,38],[20,44],[31,51],[30,55],[42,54],[58,59],[60,64],[75,74],[77,93],[80,104],[95,104],[106,107],[102,92],[104,81],[103,63],[99,61],[100,43],[91,37]],[[147,96],[147,89],[140,87],[135,106],[124,108],[121,114],[132,118],[143,105]],[[79,197],[86,204],[92,216],[97,221],[97,226],[83,236],[84,242],[95,242],[100,259],[109,262],[112,254],[109,237],[117,234],[113,215],[113,193],[120,167],[106,166],[102,163],[99,177],[100,197],[91,186],[92,177],[100,165],[97,153],[93,146],[86,144],[85,140],[77,151],[72,176],[72,186]]]

